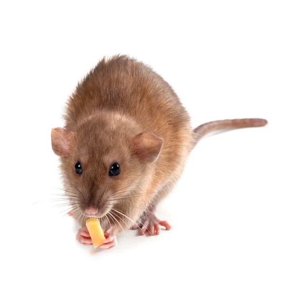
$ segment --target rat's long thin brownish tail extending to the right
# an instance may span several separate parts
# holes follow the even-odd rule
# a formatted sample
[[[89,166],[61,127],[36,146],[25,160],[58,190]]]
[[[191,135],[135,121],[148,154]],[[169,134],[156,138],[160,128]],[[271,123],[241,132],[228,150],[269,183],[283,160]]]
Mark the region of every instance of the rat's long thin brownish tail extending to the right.
[[[203,123],[193,130],[193,148],[198,144],[202,137],[213,131],[237,129],[244,127],[260,127],[265,126],[267,123],[268,121],[264,119],[236,119]]]

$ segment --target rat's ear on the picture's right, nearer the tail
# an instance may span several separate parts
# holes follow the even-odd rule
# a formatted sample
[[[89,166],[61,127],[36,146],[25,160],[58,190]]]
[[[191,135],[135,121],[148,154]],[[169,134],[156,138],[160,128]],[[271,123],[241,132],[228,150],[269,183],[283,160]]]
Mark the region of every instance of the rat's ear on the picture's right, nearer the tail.
[[[152,133],[141,133],[134,138],[134,154],[143,163],[158,159],[163,139]]]

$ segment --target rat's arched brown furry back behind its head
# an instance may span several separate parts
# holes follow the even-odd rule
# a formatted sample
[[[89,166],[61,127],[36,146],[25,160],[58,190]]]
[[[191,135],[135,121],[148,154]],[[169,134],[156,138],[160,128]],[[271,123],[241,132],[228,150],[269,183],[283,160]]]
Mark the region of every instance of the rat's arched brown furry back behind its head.
[[[102,59],[70,97],[65,128],[74,130],[78,121],[99,111],[130,117],[141,132],[164,139],[155,164],[157,185],[179,177],[191,150],[192,128],[178,96],[160,75],[127,56]]]

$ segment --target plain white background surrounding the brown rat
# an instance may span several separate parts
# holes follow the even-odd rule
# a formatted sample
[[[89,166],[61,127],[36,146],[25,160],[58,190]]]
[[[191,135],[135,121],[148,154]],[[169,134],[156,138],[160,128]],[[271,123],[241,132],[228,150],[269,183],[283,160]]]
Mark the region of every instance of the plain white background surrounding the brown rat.
[[[0,280],[291,282],[291,15],[281,0],[1,1]],[[269,124],[198,144],[159,206],[171,231],[92,253],[49,200],[50,135],[77,82],[116,53],[161,74],[194,126]]]

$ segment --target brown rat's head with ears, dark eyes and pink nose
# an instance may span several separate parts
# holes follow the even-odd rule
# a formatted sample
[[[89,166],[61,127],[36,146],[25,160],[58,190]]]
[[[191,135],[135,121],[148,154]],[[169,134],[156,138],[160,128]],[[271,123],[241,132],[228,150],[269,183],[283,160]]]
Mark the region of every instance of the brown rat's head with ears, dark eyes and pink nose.
[[[73,209],[98,218],[143,192],[162,144],[162,138],[137,133],[123,123],[113,127],[91,120],[73,131],[52,129],[52,147],[61,157],[65,190]]]

